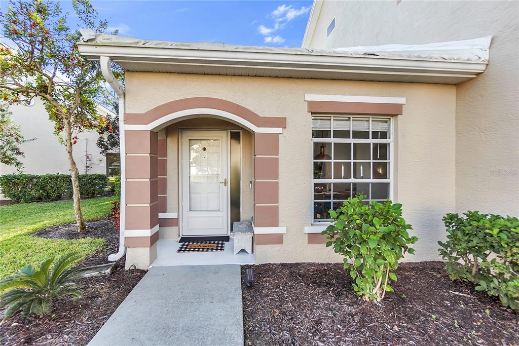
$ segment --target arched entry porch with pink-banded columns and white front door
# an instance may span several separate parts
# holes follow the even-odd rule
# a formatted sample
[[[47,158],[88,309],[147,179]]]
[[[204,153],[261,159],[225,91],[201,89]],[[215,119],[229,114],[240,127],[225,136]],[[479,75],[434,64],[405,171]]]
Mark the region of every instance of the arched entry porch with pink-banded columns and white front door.
[[[233,251],[232,225],[240,221],[253,223],[256,245],[282,243],[278,155],[285,123],[211,98],[127,113],[126,267],[254,264],[254,253]],[[224,251],[177,253],[179,239],[191,236],[230,241]]]

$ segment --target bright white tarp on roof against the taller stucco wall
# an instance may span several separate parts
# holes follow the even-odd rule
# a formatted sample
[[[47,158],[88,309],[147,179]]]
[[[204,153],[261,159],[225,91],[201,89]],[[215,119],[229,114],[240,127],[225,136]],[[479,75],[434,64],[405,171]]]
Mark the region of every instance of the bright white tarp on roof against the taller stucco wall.
[[[379,57],[415,58],[433,60],[462,60],[488,62],[488,51],[492,36],[430,43],[425,45],[357,46],[332,49],[354,55],[376,55]]]

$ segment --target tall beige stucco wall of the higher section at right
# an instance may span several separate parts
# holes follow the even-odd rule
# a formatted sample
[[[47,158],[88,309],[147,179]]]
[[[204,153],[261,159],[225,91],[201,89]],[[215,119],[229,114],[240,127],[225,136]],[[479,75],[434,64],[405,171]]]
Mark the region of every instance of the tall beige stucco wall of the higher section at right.
[[[335,30],[326,38],[334,17]],[[518,215],[517,18],[517,1],[324,1],[309,46],[423,44],[493,35],[487,70],[457,87],[456,210]]]

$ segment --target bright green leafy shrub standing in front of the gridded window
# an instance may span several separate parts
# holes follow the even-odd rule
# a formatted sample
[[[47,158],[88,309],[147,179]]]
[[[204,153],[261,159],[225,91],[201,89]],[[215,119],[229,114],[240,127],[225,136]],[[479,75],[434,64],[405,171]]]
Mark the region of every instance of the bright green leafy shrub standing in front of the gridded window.
[[[366,301],[380,301],[386,292],[392,292],[389,279],[397,281],[392,270],[406,252],[413,254],[408,244],[418,238],[409,237],[412,229],[402,218],[402,204],[391,201],[363,202],[365,196],[349,198],[336,211],[330,210],[335,223],[326,234],[336,253],[343,255],[344,269],[350,269],[355,292]]]

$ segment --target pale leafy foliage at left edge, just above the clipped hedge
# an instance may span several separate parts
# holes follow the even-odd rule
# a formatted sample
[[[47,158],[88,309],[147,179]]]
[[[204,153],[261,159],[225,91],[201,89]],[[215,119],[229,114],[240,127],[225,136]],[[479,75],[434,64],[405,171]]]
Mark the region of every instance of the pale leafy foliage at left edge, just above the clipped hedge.
[[[24,139],[20,127],[12,122],[8,107],[6,103],[0,102],[0,162],[16,167],[17,171],[21,173],[23,164],[18,157],[25,157],[25,155],[20,149],[20,144],[33,139]]]

